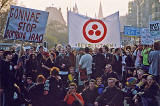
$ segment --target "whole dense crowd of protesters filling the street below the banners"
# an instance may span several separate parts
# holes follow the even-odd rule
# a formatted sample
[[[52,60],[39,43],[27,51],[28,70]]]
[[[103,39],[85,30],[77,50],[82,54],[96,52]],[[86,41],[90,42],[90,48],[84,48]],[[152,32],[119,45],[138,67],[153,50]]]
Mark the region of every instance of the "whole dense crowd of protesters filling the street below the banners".
[[[153,46],[0,50],[0,106],[158,106]]]

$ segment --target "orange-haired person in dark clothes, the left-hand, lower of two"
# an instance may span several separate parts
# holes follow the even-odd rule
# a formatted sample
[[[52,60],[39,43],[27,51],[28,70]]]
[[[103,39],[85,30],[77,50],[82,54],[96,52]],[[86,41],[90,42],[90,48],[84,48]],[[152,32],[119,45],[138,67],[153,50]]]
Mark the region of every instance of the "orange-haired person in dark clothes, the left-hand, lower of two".
[[[29,89],[29,98],[31,99],[32,106],[45,106],[44,103],[44,82],[45,77],[38,75],[37,83]]]

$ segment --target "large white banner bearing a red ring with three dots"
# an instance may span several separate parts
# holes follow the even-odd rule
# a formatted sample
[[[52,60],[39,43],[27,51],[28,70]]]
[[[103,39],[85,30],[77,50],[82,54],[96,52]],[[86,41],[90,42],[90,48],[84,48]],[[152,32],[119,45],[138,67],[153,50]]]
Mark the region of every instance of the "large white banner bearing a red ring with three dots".
[[[119,12],[102,20],[68,12],[69,44],[120,47]]]

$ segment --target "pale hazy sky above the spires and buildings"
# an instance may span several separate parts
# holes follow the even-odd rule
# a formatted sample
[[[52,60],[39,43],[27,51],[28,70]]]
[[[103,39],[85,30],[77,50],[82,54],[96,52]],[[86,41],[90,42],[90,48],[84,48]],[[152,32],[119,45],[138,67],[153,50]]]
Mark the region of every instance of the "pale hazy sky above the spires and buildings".
[[[70,8],[77,4],[80,14],[95,17],[98,14],[99,4],[102,3],[103,16],[106,17],[119,11],[120,15],[126,15],[128,11],[128,2],[132,0],[18,0],[19,5],[23,4],[27,8],[45,10],[48,6],[54,6],[62,9],[62,14],[67,19],[67,6]]]

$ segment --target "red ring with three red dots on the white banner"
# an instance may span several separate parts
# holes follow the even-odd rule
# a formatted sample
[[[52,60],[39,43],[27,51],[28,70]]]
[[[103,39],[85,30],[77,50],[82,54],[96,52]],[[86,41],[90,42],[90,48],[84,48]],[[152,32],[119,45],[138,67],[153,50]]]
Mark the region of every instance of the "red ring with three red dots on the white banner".
[[[92,23],[92,22],[98,22],[100,25],[102,25],[103,27],[103,35],[102,37],[100,37],[99,39],[96,39],[96,40],[93,40],[91,38],[88,37],[89,36],[93,36],[93,34],[95,34],[97,37],[101,35],[101,31],[100,30],[97,30],[98,29],[98,25],[97,24],[93,24],[92,25],[92,29],[90,29],[87,33],[86,33],[86,28],[87,26]],[[83,26],[83,36],[84,38],[88,41],[88,42],[91,42],[91,43],[98,43],[98,42],[101,42],[105,37],[106,37],[106,33],[107,33],[107,27],[105,25],[105,23],[101,20],[97,20],[97,19],[90,19],[88,20],[84,26]],[[87,35],[88,34],[88,35]]]

